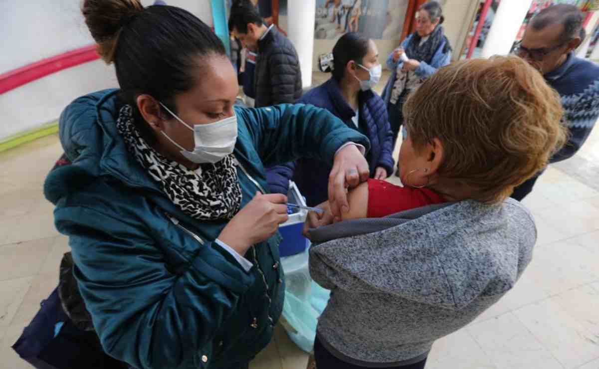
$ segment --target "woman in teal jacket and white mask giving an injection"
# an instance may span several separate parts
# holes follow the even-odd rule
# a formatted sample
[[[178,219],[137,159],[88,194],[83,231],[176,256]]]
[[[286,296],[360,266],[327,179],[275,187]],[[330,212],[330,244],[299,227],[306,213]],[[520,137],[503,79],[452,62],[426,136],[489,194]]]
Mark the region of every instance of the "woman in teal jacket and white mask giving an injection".
[[[264,166],[334,162],[331,198],[368,177],[368,140],[326,110],[233,107],[237,78],[210,28],[176,7],[86,0],[119,90],[60,116],[71,165],[46,180],[104,350],[135,368],[247,368],[283,305],[286,197]]]

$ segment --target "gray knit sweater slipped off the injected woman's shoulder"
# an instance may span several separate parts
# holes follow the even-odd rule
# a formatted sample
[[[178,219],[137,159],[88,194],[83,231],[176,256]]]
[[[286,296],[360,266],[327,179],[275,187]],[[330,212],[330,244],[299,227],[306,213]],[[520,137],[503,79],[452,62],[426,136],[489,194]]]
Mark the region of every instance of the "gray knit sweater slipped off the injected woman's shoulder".
[[[365,367],[404,365],[474,320],[531,260],[536,227],[518,201],[476,201],[311,231],[310,274],[331,299],[317,334]],[[318,243],[321,242],[321,243]]]

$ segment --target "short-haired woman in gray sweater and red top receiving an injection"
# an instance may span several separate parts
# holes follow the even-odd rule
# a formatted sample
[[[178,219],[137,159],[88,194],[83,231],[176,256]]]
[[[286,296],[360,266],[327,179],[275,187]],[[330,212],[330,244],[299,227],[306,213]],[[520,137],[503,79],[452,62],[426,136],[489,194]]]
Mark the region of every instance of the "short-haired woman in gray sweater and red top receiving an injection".
[[[509,196],[564,144],[562,114],[557,93],[514,56],[454,63],[410,95],[405,187],[368,180],[350,192],[350,220],[330,224],[327,211],[307,221],[322,226],[307,232],[311,276],[331,289],[319,367],[423,368],[435,340],[513,287],[537,231]]]

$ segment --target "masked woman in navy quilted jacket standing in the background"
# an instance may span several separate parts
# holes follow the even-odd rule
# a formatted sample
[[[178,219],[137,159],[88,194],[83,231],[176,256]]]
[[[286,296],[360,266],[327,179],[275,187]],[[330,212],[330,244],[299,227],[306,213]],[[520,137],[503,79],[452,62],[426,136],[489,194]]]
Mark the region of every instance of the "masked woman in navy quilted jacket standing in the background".
[[[331,60],[332,58],[332,60]],[[370,139],[367,153],[370,177],[386,179],[393,170],[393,143],[385,103],[372,88],[379,82],[381,65],[376,44],[361,34],[341,37],[332,55],[321,58],[321,69],[332,78],[307,92],[298,101],[325,108],[346,126]],[[307,204],[315,206],[328,198],[327,183],[331,165],[316,159],[299,159],[268,170],[273,192],[287,193],[289,179],[297,183]]]

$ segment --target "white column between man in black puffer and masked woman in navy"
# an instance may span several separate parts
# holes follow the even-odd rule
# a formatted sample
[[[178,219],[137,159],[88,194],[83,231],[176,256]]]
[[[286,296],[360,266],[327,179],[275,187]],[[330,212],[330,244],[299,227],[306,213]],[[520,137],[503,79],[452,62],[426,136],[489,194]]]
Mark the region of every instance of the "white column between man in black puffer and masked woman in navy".
[[[302,87],[310,87],[312,84],[316,0],[288,1],[287,14],[287,34],[298,52]]]

